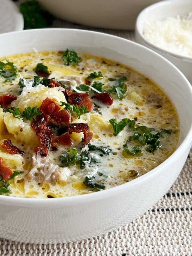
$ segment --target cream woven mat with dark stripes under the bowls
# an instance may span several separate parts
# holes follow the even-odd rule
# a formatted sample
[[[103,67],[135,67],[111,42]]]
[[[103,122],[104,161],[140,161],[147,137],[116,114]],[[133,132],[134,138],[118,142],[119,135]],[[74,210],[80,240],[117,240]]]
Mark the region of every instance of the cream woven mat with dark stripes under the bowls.
[[[88,28],[63,20],[55,20],[52,27],[91,29],[134,40],[131,31]],[[0,256],[5,255],[192,256],[192,149],[168,193],[132,223],[103,236],[68,244],[23,244],[0,238]]]

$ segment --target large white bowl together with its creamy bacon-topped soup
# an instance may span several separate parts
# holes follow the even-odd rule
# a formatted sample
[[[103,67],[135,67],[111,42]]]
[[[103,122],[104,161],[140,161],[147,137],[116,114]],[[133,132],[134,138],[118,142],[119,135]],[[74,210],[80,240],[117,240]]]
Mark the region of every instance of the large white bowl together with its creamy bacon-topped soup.
[[[9,33],[0,49],[1,236],[99,235],[166,193],[191,146],[191,87],[177,68],[80,30]]]

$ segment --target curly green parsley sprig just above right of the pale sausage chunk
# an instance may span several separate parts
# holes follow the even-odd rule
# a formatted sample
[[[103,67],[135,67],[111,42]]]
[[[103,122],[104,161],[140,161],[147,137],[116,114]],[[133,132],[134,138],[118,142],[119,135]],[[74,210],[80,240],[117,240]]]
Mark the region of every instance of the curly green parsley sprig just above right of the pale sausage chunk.
[[[77,149],[76,148],[69,148],[67,152],[62,152],[59,160],[61,162],[61,167],[75,165],[78,161],[77,158]]]

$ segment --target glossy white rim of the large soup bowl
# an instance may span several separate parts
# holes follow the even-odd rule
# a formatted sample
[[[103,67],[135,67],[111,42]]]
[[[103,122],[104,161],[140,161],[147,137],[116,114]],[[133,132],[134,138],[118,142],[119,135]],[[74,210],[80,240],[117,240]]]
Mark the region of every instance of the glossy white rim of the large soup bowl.
[[[51,30],[59,30],[59,31],[72,31],[72,32],[83,32],[83,33],[91,33],[91,34],[97,34],[98,36],[110,36],[111,38],[117,38],[118,40],[126,41],[129,44],[135,44],[137,47],[143,48],[144,51],[149,51],[154,55],[158,55],[158,58],[163,59],[167,62],[172,68],[177,70],[177,72],[182,76],[184,79],[184,82],[188,85],[188,89],[191,91],[192,94],[192,86],[187,80],[187,78],[183,75],[183,73],[175,67],[169,60],[161,56],[160,54],[148,49],[147,47],[140,45],[138,43],[135,43],[133,41],[130,41],[128,39],[119,37],[119,36],[113,36],[106,33],[101,32],[95,32],[90,30],[83,30],[83,29],[71,29],[71,28],[45,28],[45,29],[33,29],[33,30],[22,30],[22,31],[14,31],[9,33],[4,33],[0,35],[0,39],[2,36],[5,36],[7,34],[15,34],[15,33],[27,33],[27,31],[51,31]],[[34,32],[35,33],[35,32]],[[160,85],[159,85],[160,86]],[[161,87],[161,86],[160,86]],[[124,190],[132,188],[135,184],[139,184],[144,182],[146,179],[153,177],[156,175],[156,173],[161,172],[161,170],[169,164],[169,162],[174,161],[174,159],[177,159],[179,157],[179,153],[182,152],[186,147],[191,146],[192,143],[192,123],[190,125],[190,128],[188,130],[188,133],[184,140],[182,140],[180,146],[172,153],[171,156],[169,156],[163,163],[159,164],[157,167],[152,169],[151,171],[143,174],[140,177],[137,177],[134,180],[131,180],[127,183],[108,188],[106,190],[93,192],[91,194],[84,194],[84,195],[77,195],[77,196],[68,196],[68,197],[57,197],[57,198],[25,198],[25,197],[14,197],[14,196],[6,196],[6,195],[0,195],[0,204],[4,205],[16,205],[20,207],[41,207],[41,208],[50,208],[55,207],[63,207],[63,206],[71,206],[71,205],[78,205],[78,204],[86,204],[94,201],[100,201],[103,198],[108,198],[111,196],[115,196],[119,193],[122,193]]]

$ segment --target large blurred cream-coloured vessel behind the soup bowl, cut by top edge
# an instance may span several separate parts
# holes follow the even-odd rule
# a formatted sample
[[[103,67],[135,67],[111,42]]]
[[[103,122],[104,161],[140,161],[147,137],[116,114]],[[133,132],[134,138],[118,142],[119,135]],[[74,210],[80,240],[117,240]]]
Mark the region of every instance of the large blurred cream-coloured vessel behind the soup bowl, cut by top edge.
[[[134,29],[137,15],[158,0],[39,0],[54,16],[71,22],[112,29]]]

